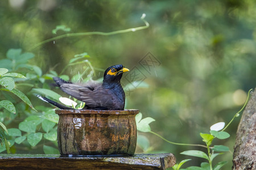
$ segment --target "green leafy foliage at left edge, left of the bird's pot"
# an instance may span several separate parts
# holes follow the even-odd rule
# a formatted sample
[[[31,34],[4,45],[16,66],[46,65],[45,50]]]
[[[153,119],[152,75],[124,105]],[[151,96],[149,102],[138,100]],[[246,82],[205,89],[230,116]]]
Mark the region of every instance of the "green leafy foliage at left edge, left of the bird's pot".
[[[54,141],[56,143],[57,139],[57,132],[56,132],[56,122],[51,122],[47,119],[44,119],[42,117],[38,117],[37,114],[52,114],[54,113],[53,110],[47,111],[47,108],[43,108],[45,113],[42,112],[35,112],[35,108],[31,104],[30,99],[26,95],[23,94],[20,90],[15,88],[14,82],[21,82],[16,84],[17,86],[24,86],[28,87],[31,90],[31,87],[34,86],[42,86],[42,83],[45,82],[45,80],[48,78],[46,75],[42,75],[42,70],[35,65],[29,65],[28,61],[34,57],[34,54],[32,53],[22,53],[21,49],[10,49],[7,54],[7,59],[2,59],[0,62],[7,62],[12,63],[8,67],[10,70],[20,71],[22,73],[26,73],[26,76],[28,79],[26,79],[25,76],[19,73],[7,73],[7,69],[0,69],[1,77],[0,77],[0,83],[3,87],[1,88],[1,91],[3,93],[11,92],[11,94],[14,94],[15,96],[19,97],[24,103],[29,105],[33,110],[29,110],[26,107],[24,107],[22,104],[17,103],[16,100],[14,100],[12,95],[4,94],[4,96],[9,100],[2,100],[1,106],[5,109],[7,109],[11,113],[16,113],[16,109],[14,105],[18,106],[18,114],[19,117],[24,117],[24,120],[16,124],[15,128],[6,129],[5,126],[2,125],[2,128],[5,129],[6,134],[8,134],[8,137],[6,134],[2,132],[2,129],[0,130],[1,133],[1,139],[3,137],[5,141],[5,145],[0,146],[0,152],[7,150],[8,153],[10,152],[16,152],[16,147],[14,144],[23,145],[22,148],[26,149],[26,147],[29,148],[35,147],[38,145],[38,143],[42,140],[44,137],[48,141]],[[3,61],[3,62],[2,62]],[[25,79],[25,80],[24,80]],[[32,83],[36,82],[36,83]],[[19,87],[18,86],[18,87]],[[28,94],[30,94],[28,92]],[[13,104],[14,103],[14,104]],[[39,111],[42,111],[42,108],[39,108]],[[2,119],[6,124],[13,124],[13,122],[17,122],[14,118],[9,118],[10,114],[9,112],[1,112],[1,116],[4,118]],[[18,125],[18,126],[17,126]],[[39,126],[42,127],[42,130],[39,130]],[[8,141],[7,141],[8,139]],[[9,147],[9,145],[11,148]],[[28,145],[27,145],[28,144]],[[50,146],[48,146],[50,147]]]

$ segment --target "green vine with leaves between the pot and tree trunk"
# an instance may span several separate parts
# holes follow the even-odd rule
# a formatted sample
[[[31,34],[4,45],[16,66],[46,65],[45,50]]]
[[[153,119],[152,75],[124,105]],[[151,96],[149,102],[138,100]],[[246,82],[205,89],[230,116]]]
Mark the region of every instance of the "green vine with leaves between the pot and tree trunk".
[[[201,170],[208,170],[208,169],[218,170],[218,169],[221,169],[228,162],[227,161],[218,162],[213,167],[213,159],[216,158],[216,156],[222,155],[222,154],[224,154],[224,152],[229,151],[229,147],[224,146],[224,145],[214,145],[214,146],[212,146],[213,139],[214,138],[227,139],[227,138],[230,137],[230,134],[227,133],[224,130],[226,128],[228,128],[228,126],[232,123],[234,118],[238,117],[239,113],[243,110],[243,108],[245,108],[245,106],[247,104],[247,101],[249,100],[250,91],[248,92],[247,100],[246,100],[245,104],[243,105],[242,109],[234,115],[234,117],[232,118],[232,120],[229,122],[229,124],[227,126],[225,126],[224,122],[218,122],[217,124],[214,124],[210,127],[210,133],[209,134],[200,133],[200,136],[203,139],[203,142],[205,142],[205,146],[203,146],[203,145],[191,145],[191,144],[185,144],[185,143],[175,143],[175,142],[168,141],[167,139],[164,139],[159,134],[156,134],[156,133],[151,131],[151,128],[150,128],[149,124],[152,121],[155,121],[155,120],[152,119],[151,117],[147,117],[147,118],[142,119],[142,114],[141,113],[137,114],[137,116],[136,116],[136,122],[137,122],[138,130],[142,131],[142,132],[150,132],[152,134],[155,134],[158,137],[162,138],[164,141],[166,141],[168,143],[171,143],[171,144],[174,144],[174,145],[201,146],[201,147],[207,148],[207,153],[205,153],[203,151],[200,151],[200,150],[188,150],[188,151],[181,152],[180,154],[195,156],[195,157],[198,157],[198,158],[204,158],[208,161],[208,163],[207,162],[201,163],[200,167],[192,166],[192,167],[188,167],[186,169],[201,169]],[[219,131],[219,130],[221,130],[221,131]],[[190,160],[190,159],[182,160],[179,164],[176,164],[173,167],[173,169],[174,170],[179,170],[181,165],[183,165],[188,160]]]

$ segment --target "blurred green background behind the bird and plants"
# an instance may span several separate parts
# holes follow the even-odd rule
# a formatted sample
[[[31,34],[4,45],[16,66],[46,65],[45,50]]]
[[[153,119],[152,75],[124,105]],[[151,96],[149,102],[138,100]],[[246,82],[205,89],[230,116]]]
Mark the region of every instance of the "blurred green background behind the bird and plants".
[[[31,49],[65,34],[52,33],[57,25],[71,28],[69,33],[112,32],[143,26],[143,13],[150,27],[141,31],[66,37]],[[126,108],[154,118],[151,130],[170,141],[203,144],[199,133],[209,133],[216,122],[228,123],[242,107],[247,91],[255,87],[255,26],[254,0],[0,1],[0,59],[6,58],[7,50],[21,48],[35,54],[30,64],[40,67],[43,74],[49,70],[60,73],[75,54],[86,52],[96,69],[121,63],[139,70],[144,75],[142,83],[149,86],[126,93]],[[140,62],[147,59],[148,52],[158,61],[150,71]],[[65,74],[74,75],[81,69],[73,67]],[[101,71],[98,76],[102,75]],[[129,76],[123,78],[123,84],[127,81]],[[32,95],[30,99],[34,106],[42,105]],[[18,122],[19,114],[13,118]],[[239,120],[226,130],[229,139],[214,144],[229,146],[233,152]],[[180,152],[199,149],[170,145],[148,133],[141,135],[148,138],[150,148],[143,151],[138,147],[138,153],[172,152],[179,162],[191,158]],[[201,161],[192,159],[193,165]],[[225,167],[230,169],[232,154],[226,153],[221,160],[228,160]]]

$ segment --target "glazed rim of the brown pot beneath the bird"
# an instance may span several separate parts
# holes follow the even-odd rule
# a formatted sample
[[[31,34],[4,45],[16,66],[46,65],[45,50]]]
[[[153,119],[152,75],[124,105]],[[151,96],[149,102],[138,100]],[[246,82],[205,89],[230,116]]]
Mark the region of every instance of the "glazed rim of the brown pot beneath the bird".
[[[124,110],[78,110],[78,109],[56,109],[56,114],[108,114],[108,115],[119,115],[119,114],[138,114],[138,109],[124,109]]]

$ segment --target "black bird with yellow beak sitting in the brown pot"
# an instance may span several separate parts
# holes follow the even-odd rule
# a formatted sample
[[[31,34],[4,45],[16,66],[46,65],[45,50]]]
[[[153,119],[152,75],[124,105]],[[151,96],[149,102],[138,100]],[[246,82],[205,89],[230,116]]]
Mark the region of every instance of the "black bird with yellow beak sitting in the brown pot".
[[[53,77],[53,80],[55,80],[55,86],[60,87],[66,94],[85,102],[84,109],[123,110],[125,107],[125,92],[120,80],[122,74],[127,71],[129,69],[126,69],[123,65],[110,66],[104,73],[102,83],[75,84],[59,77]],[[38,97],[60,109],[72,109],[46,97]]]

